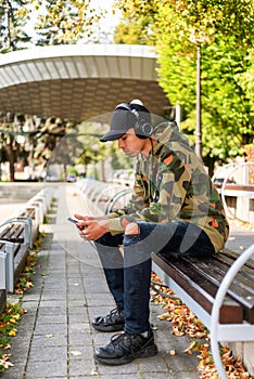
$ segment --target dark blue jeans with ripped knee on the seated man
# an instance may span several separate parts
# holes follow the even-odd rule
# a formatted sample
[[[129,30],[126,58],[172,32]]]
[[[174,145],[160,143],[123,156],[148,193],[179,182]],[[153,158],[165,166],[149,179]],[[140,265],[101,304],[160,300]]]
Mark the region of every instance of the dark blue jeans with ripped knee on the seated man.
[[[125,330],[141,334],[150,328],[151,253],[167,258],[213,254],[208,236],[188,222],[138,222],[140,234],[105,234],[96,241],[110,291],[125,312]],[[119,246],[124,247],[124,254]]]

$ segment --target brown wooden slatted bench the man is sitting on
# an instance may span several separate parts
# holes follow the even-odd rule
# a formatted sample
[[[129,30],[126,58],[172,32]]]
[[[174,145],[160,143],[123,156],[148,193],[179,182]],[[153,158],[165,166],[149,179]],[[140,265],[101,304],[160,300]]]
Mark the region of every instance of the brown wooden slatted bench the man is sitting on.
[[[166,259],[153,253],[153,271],[211,331],[219,378],[227,379],[219,341],[254,341],[254,245],[240,257],[225,249],[209,258]]]

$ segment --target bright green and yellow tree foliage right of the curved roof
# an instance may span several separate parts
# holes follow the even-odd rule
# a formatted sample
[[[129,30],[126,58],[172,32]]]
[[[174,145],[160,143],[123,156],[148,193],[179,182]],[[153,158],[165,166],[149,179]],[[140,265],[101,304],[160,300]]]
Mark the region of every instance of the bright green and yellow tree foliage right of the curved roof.
[[[203,157],[209,165],[242,155],[244,145],[253,143],[254,1],[123,0],[116,4],[125,22],[148,21],[144,30],[150,30],[147,36],[158,53],[160,83],[169,102],[185,109],[181,129],[192,141],[200,45]]]

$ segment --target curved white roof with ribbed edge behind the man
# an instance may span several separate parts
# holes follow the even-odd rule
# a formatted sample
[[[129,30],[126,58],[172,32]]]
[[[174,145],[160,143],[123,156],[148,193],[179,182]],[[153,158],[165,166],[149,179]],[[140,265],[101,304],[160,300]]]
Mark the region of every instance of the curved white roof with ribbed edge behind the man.
[[[157,115],[169,106],[151,47],[55,45],[1,55],[2,112],[85,120],[132,99]]]

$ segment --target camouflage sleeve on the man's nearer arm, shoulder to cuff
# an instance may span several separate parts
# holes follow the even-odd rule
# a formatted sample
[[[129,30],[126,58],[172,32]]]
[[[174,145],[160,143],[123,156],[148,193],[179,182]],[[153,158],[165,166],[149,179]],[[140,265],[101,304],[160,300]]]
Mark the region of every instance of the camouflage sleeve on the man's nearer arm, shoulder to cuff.
[[[140,179],[140,178],[139,178]],[[167,155],[158,165],[156,183],[141,179],[136,185],[136,197],[128,205],[128,212],[111,217],[111,230],[120,230],[123,219],[132,221],[167,222],[176,219],[181,211],[190,184],[189,170],[185,161],[174,153]],[[148,185],[147,185],[148,184]],[[152,193],[149,187],[153,186]],[[123,226],[122,226],[123,232]]]

